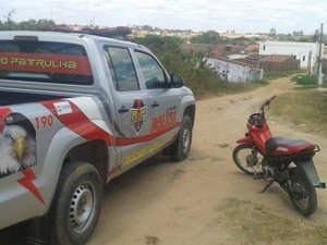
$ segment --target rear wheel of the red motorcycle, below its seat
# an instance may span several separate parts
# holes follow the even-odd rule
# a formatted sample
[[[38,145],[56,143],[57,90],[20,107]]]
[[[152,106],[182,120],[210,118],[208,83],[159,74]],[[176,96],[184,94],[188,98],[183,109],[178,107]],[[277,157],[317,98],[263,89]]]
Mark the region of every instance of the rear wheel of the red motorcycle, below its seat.
[[[295,191],[289,193],[295,209],[305,217],[311,216],[317,209],[317,193],[311,184],[307,175],[298,168],[290,170],[290,179]]]

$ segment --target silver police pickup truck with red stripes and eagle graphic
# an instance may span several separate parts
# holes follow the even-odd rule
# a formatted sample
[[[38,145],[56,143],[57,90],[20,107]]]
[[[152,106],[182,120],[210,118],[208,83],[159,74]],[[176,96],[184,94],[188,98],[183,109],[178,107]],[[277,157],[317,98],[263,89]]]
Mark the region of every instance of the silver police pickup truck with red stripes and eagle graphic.
[[[33,220],[31,244],[84,244],[102,185],[160,150],[184,160],[194,115],[191,89],[142,46],[0,32],[0,229]]]

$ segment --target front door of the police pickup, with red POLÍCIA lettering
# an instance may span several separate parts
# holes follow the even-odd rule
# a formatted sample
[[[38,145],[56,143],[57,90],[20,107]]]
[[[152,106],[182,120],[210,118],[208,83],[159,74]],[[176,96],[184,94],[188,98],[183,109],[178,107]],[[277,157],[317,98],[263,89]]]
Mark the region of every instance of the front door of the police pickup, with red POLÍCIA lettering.
[[[135,50],[135,57],[150,96],[150,133],[157,140],[169,140],[178,132],[181,89],[169,86],[166,71],[152,54]]]

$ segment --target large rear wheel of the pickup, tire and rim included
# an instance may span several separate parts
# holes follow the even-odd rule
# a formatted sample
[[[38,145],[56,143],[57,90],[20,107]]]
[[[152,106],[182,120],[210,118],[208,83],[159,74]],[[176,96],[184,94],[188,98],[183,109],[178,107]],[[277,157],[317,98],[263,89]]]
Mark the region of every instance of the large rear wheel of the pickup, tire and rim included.
[[[102,183],[86,162],[66,163],[51,206],[50,244],[82,245],[92,235],[101,209]]]

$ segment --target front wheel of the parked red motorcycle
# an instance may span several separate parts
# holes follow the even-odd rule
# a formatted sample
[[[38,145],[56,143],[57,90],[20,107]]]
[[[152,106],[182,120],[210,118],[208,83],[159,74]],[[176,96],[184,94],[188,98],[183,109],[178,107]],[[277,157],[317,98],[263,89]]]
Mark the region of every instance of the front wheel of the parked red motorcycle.
[[[238,145],[232,154],[237,167],[250,175],[263,174],[262,161],[263,155],[253,148],[251,144]]]

